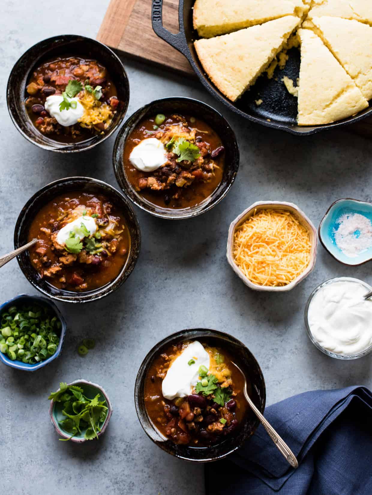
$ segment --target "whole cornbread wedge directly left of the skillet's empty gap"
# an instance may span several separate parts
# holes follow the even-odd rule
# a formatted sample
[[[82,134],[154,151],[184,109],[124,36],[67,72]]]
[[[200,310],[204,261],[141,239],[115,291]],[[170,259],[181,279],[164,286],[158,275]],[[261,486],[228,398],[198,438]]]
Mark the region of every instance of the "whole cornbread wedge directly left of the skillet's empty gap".
[[[287,15],[260,26],[194,42],[205,72],[217,88],[235,101],[254,84],[301,22]]]

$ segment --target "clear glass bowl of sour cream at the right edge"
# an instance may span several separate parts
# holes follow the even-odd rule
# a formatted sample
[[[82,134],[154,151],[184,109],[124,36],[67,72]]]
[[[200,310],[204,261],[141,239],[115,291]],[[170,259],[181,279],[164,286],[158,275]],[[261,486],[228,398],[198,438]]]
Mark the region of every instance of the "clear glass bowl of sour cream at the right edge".
[[[338,277],[320,284],[305,307],[310,341],[327,356],[357,359],[372,351],[371,286],[362,280]]]

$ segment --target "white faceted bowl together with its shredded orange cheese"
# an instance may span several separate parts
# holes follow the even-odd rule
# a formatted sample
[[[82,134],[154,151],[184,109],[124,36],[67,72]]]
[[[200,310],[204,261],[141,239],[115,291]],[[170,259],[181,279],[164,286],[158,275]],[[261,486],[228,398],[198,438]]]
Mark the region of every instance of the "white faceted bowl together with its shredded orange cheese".
[[[313,270],[317,233],[296,204],[257,201],[230,225],[227,259],[256,291],[293,289]]]

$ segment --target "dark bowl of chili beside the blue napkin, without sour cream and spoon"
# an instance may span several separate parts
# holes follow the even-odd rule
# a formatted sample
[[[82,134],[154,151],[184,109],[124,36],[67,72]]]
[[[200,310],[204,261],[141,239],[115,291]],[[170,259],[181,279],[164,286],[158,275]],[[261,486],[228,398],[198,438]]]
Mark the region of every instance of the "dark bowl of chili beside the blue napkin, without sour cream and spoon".
[[[213,396],[208,395],[209,390],[204,393],[201,381],[199,393],[195,393],[199,390],[196,388],[189,396],[168,400],[162,395],[167,367],[187,344],[195,341],[208,353],[218,352],[222,356],[223,364],[217,367],[216,362],[220,361],[211,357],[209,371],[216,376],[206,376],[208,382],[214,378],[217,388]],[[249,396],[263,413],[266,387],[261,368],[249,349],[231,335],[210,329],[187,329],[166,337],[150,350],[137,374],[134,400],[141,426],[156,445],[181,459],[209,462],[226,457],[253,435],[259,422],[244,399],[242,376],[231,362],[232,357],[245,372]],[[222,378],[221,373],[225,375]],[[204,385],[208,387],[209,383]],[[221,394],[225,395],[223,399]]]

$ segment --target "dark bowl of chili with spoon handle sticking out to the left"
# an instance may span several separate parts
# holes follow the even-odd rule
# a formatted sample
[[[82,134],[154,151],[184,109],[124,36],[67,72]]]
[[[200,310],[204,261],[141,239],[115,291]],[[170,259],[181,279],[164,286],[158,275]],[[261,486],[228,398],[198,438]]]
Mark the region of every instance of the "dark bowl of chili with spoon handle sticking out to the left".
[[[67,302],[100,299],[120,287],[141,244],[127,199],[88,177],[52,182],[27,201],[14,246],[34,238],[38,243],[17,256],[23,274],[44,295]]]

